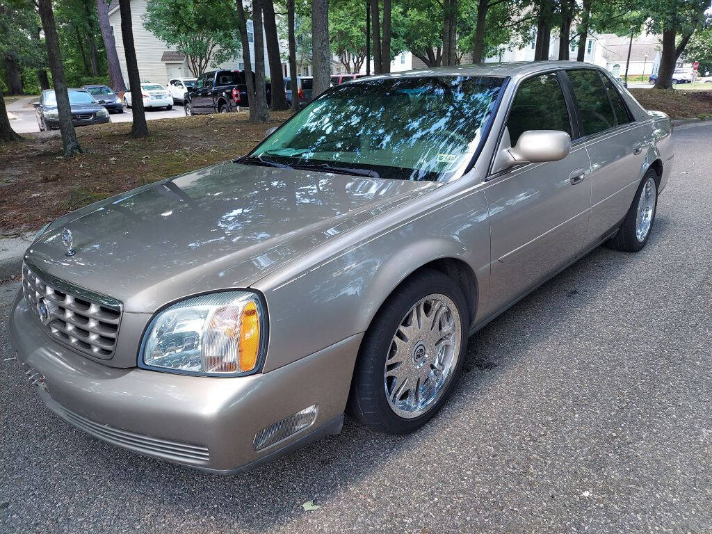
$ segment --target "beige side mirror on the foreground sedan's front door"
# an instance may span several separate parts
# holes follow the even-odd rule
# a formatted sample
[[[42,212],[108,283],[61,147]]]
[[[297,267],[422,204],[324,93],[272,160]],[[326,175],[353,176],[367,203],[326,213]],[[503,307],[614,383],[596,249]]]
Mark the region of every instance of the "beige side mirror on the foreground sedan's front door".
[[[569,155],[571,136],[560,130],[527,130],[511,147],[509,131],[500,144],[493,172],[501,172],[520,163],[556,162]]]

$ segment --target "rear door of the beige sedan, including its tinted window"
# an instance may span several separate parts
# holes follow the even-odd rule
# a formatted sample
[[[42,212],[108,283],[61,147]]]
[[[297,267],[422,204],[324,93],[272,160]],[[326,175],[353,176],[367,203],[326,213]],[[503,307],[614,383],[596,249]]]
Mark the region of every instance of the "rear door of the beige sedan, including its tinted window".
[[[592,163],[591,219],[585,246],[607,238],[624,218],[637,190],[651,135],[632,114],[609,78],[594,69],[567,77]]]

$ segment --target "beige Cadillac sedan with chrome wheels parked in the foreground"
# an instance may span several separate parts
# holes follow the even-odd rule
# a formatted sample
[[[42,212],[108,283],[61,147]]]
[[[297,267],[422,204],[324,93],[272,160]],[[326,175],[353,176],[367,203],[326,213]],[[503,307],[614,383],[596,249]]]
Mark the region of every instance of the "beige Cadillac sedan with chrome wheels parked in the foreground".
[[[246,157],[43,229],[11,341],[70,424],[210,471],[347,409],[414,431],[469,335],[600,244],[645,246],[671,132],[582,63],[337,85]]]

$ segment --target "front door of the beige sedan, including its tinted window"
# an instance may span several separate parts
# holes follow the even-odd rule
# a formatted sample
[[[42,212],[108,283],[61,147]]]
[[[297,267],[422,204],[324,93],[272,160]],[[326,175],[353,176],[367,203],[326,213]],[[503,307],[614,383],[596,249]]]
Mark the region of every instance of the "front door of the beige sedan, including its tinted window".
[[[557,75],[528,78],[513,100],[500,150],[516,145],[527,130],[572,135],[572,124]],[[575,259],[591,201],[591,165],[582,142],[560,161],[497,170],[484,184],[491,232],[491,312]]]

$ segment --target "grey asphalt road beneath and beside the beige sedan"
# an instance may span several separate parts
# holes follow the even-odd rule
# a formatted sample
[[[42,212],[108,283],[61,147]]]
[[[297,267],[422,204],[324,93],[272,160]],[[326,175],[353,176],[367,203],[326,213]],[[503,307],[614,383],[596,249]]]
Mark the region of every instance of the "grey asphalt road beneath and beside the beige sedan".
[[[646,248],[597,249],[473,336],[410,436],[347,420],[212,476],[86,436],[0,362],[0,532],[712,532],[712,126],[676,137]]]

